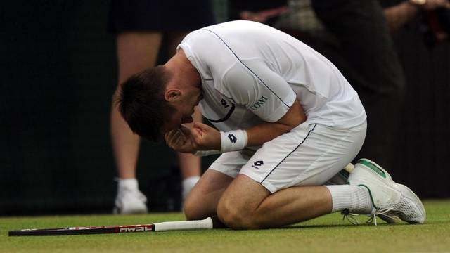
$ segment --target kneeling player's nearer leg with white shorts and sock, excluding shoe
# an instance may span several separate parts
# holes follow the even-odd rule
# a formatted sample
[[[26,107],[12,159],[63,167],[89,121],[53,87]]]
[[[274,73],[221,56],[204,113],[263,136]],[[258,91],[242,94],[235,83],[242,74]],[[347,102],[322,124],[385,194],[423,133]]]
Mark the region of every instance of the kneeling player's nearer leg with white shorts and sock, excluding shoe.
[[[370,213],[364,188],[322,186],[358,153],[365,130],[303,124],[265,143],[224,192],[219,219],[231,228],[272,228],[345,208]]]

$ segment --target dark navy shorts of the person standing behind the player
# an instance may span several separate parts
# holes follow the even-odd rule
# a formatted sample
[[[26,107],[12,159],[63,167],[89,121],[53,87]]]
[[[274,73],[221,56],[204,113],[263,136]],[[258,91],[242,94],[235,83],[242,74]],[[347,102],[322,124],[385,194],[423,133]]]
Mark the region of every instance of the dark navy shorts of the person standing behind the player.
[[[111,0],[108,32],[191,31],[214,25],[210,0]]]

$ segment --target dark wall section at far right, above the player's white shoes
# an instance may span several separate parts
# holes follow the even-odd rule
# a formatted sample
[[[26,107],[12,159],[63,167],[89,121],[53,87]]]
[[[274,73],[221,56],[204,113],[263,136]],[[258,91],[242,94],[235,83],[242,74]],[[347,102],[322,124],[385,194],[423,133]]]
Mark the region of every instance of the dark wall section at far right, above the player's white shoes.
[[[423,197],[450,197],[450,42],[425,44],[422,20],[394,34],[406,77],[394,179]]]

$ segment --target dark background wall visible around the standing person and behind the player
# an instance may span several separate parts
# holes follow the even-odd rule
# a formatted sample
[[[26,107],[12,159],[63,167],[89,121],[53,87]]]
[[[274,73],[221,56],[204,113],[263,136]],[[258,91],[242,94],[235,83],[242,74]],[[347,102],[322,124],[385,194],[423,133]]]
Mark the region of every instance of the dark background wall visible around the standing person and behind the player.
[[[16,0],[0,8],[1,215],[112,210],[116,63],[107,16],[108,1]],[[414,26],[395,39],[407,86],[393,176],[422,197],[450,197],[449,44],[430,51]],[[143,142],[138,178],[153,211],[179,208],[174,160],[162,143]]]

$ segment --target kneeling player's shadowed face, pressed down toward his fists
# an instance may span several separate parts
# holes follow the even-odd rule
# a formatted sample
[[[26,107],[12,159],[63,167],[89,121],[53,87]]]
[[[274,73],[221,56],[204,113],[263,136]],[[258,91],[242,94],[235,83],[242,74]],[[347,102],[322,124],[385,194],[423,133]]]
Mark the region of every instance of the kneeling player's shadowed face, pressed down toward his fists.
[[[202,93],[198,88],[183,93],[179,100],[172,103],[175,111],[165,119],[165,124],[162,126],[162,134],[174,129],[180,129],[181,124],[193,122],[194,108],[202,98]]]

